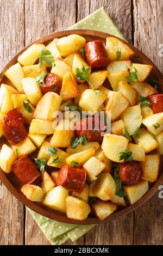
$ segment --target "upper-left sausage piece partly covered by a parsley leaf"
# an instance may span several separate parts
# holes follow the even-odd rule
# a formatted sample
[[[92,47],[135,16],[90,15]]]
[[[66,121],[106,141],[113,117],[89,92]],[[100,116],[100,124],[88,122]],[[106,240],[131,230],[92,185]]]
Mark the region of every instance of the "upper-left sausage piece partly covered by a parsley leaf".
[[[61,90],[61,82],[56,74],[48,73],[44,78],[44,83],[40,83],[42,93],[54,92],[59,94]]]

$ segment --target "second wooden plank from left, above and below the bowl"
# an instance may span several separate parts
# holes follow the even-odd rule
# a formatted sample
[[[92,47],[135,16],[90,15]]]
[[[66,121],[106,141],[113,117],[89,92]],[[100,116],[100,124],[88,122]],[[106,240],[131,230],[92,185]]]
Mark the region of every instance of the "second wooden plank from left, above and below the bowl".
[[[75,0],[26,0],[25,10],[26,45],[43,35],[62,31],[76,23]],[[26,245],[47,244],[49,242],[46,237],[27,211]]]

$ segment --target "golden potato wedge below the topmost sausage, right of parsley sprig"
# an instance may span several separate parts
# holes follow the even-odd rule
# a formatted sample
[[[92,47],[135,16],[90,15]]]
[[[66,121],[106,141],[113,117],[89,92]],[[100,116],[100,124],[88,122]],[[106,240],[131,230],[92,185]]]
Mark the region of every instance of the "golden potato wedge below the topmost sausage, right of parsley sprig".
[[[89,74],[88,80],[89,80],[89,83],[92,84],[93,89],[98,89],[99,87],[101,87],[107,75],[108,75],[107,70],[99,70],[99,71],[91,72],[91,74]]]

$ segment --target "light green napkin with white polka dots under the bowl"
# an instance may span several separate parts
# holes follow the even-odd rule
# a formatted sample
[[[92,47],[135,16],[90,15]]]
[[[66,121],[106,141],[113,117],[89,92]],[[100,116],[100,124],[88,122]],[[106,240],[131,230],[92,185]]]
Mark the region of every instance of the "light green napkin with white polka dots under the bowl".
[[[112,22],[108,14],[106,14],[103,7],[77,22],[69,29],[92,29],[124,39],[123,35],[118,31],[118,28]],[[52,245],[61,245],[68,239],[71,239],[71,241],[74,242],[94,227],[94,225],[75,225],[53,221],[30,209],[28,210]]]

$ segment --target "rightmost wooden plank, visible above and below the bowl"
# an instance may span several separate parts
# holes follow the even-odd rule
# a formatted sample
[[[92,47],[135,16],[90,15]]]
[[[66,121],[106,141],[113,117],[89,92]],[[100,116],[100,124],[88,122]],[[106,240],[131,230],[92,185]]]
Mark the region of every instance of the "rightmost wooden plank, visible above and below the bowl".
[[[162,43],[162,1],[134,1],[134,45],[163,71],[162,58],[159,56],[159,44]],[[162,244],[162,201],[156,193],[134,214],[134,244]]]

